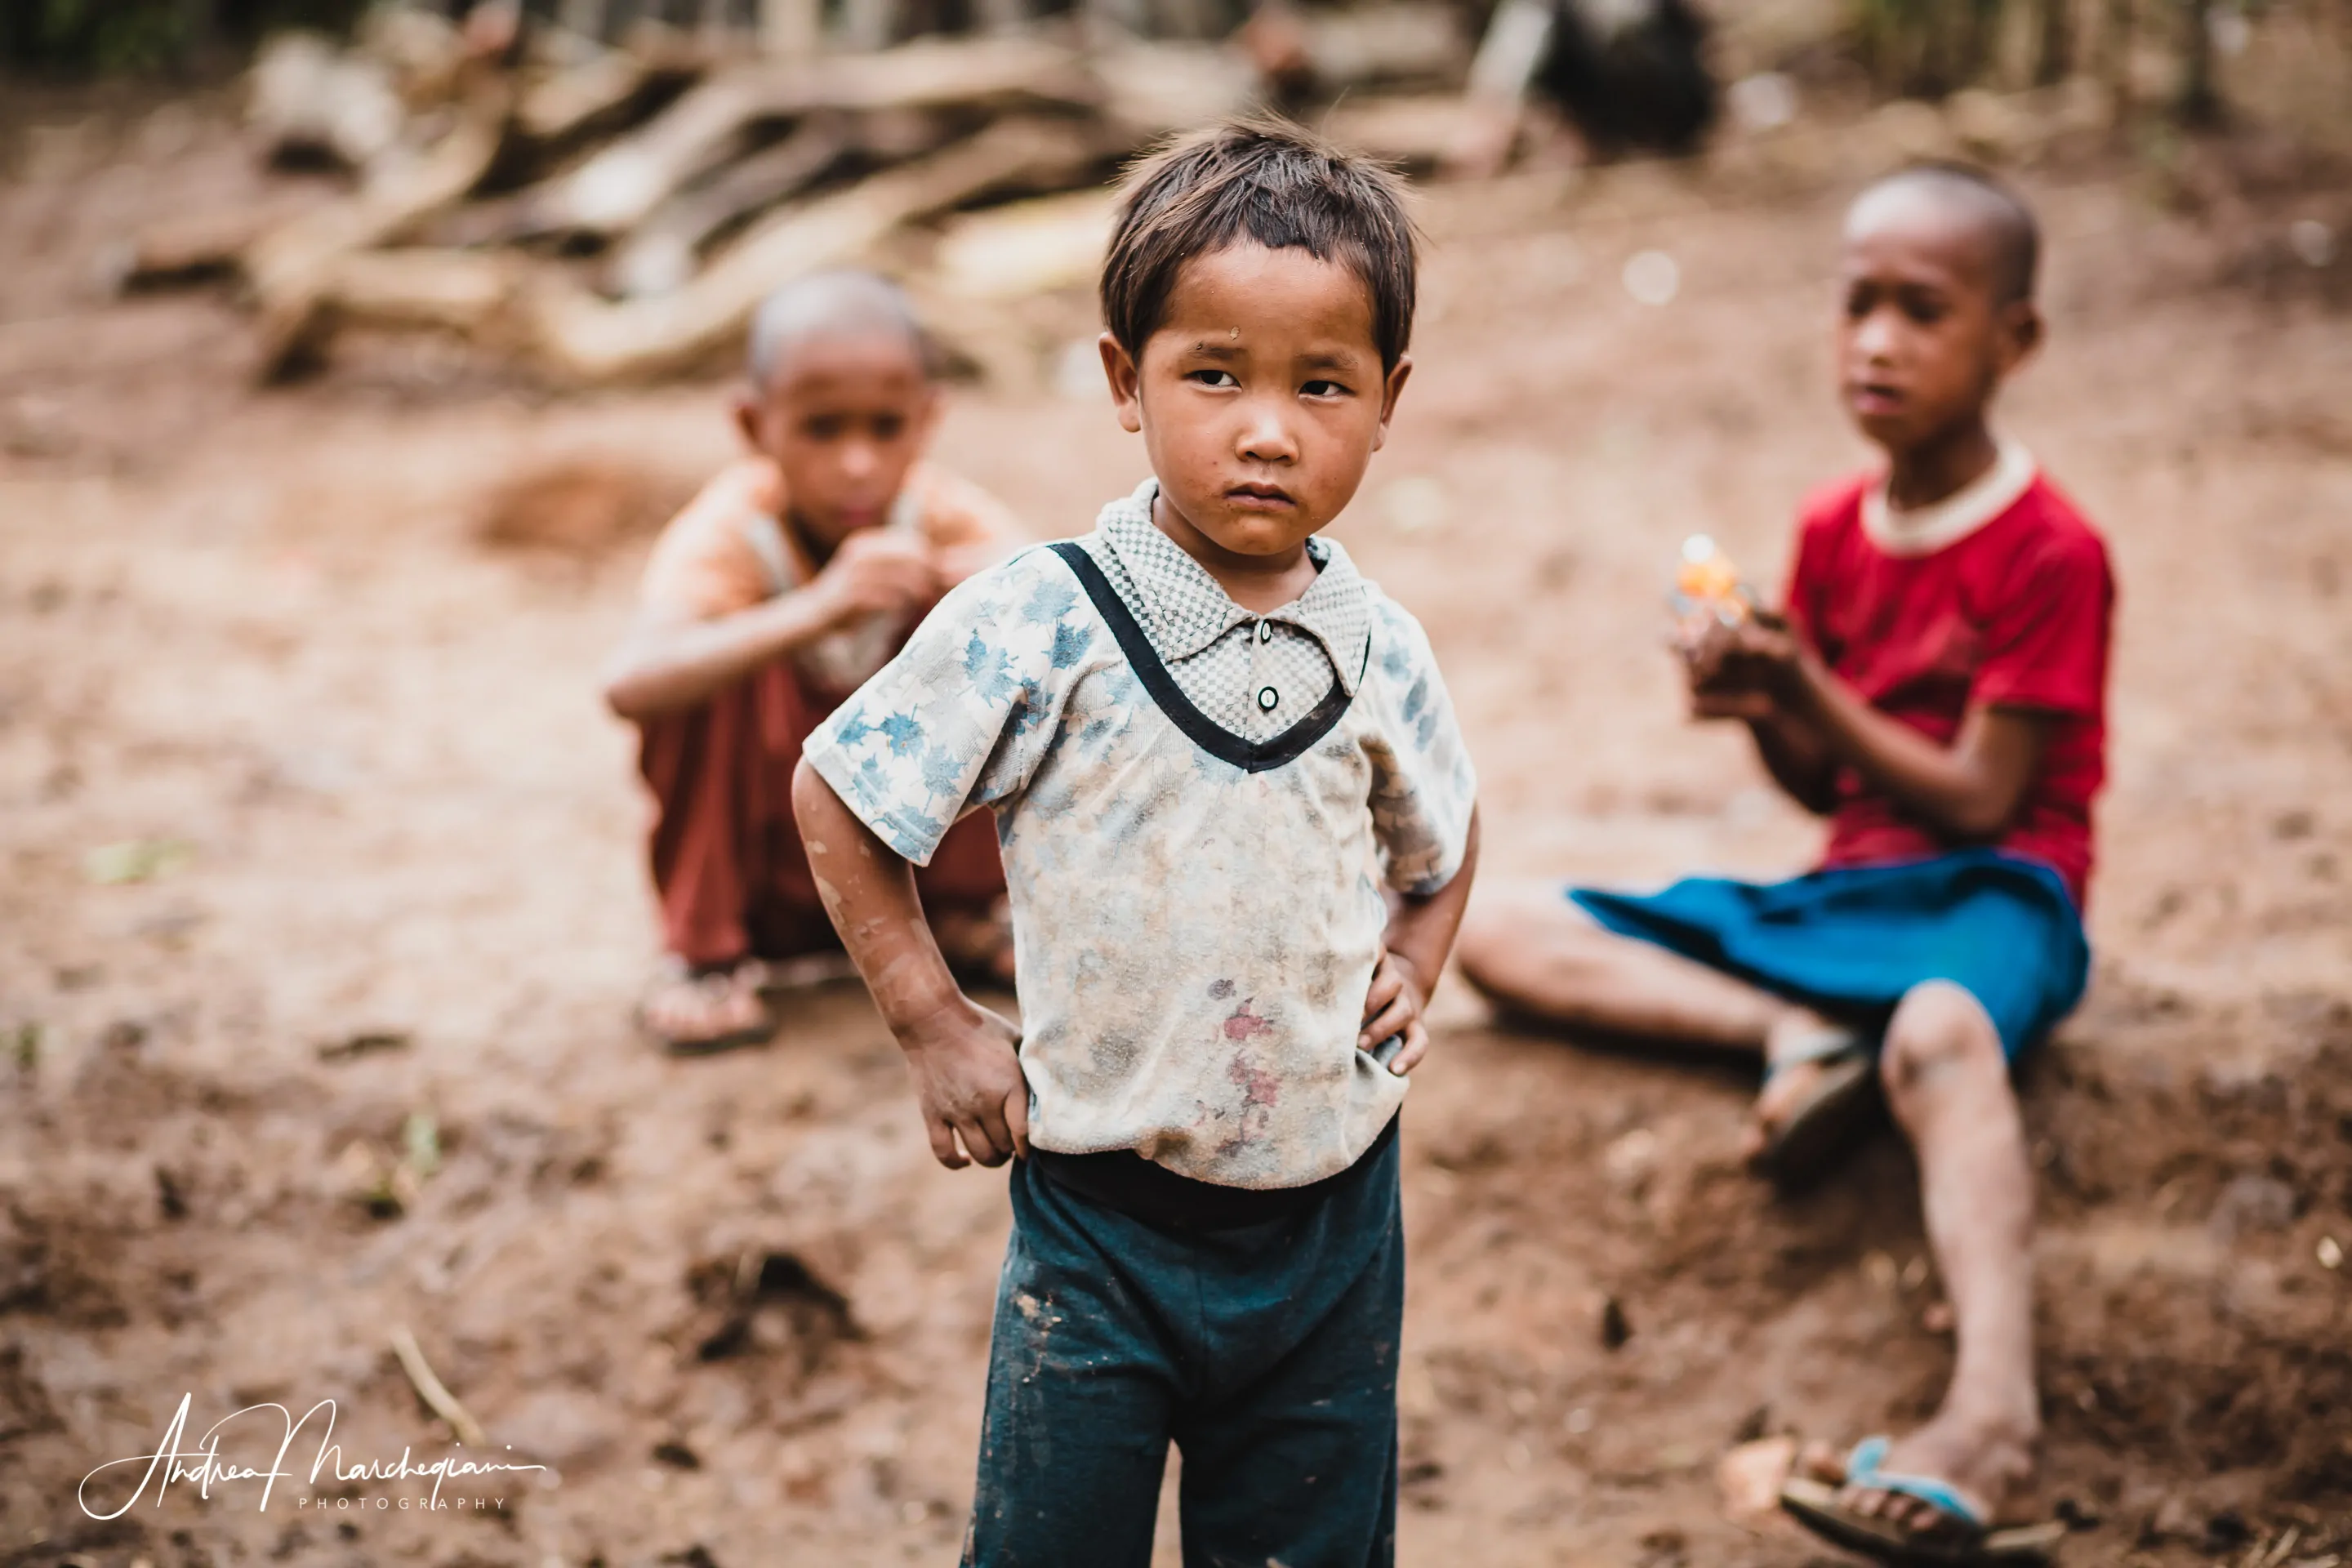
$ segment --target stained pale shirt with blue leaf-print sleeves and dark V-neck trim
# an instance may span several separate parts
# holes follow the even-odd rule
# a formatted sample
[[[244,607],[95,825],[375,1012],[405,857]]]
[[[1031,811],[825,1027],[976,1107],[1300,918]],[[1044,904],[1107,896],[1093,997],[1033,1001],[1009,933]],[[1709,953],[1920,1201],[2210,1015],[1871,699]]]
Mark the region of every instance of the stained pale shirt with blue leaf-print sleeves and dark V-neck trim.
[[[1477,783],[1421,623],[1345,550],[1315,541],[1315,585],[1256,616],[1152,494],[955,588],[807,757],[917,865],[995,811],[1040,1150],[1298,1187],[1404,1103],[1355,1044],[1381,889],[1454,879]],[[1282,691],[1308,649],[1322,689]],[[1235,733],[1249,710],[1272,733]]]

